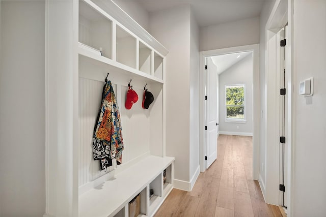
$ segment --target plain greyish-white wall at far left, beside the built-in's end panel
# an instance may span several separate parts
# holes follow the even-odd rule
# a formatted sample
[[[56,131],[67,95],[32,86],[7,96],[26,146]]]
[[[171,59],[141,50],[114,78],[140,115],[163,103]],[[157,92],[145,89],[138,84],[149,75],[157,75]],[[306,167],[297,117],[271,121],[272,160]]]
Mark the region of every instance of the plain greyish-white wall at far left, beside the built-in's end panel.
[[[44,40],[44,1],[1,1],[1,216],[45,213]]]

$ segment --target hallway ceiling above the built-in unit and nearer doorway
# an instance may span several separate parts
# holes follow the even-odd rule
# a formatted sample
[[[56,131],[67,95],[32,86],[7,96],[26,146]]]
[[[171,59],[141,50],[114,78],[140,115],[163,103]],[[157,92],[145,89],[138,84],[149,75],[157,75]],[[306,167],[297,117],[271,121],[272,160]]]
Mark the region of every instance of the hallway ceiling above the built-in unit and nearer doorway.
[[[192,6],[199,26],[242,20],[260,15],[265,1],[271,0],[117,0],[139,2],[149,13],[182,4]]]

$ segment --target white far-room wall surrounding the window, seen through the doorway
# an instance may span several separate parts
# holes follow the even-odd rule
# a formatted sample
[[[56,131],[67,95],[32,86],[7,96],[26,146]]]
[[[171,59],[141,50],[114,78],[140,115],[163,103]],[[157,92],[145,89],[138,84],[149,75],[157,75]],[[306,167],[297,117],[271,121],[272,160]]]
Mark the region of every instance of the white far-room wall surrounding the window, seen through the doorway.
[[[225,85],[244,84],[246,115],[245,123],[226,122],[225,116]],[[244,57],[229,69],[220,74],[219,82],[219,119],[220,133],[233,132],[234,135],[252,135],[253,133],[253,57]],[[237,129],[237,126],[239,129]]]

